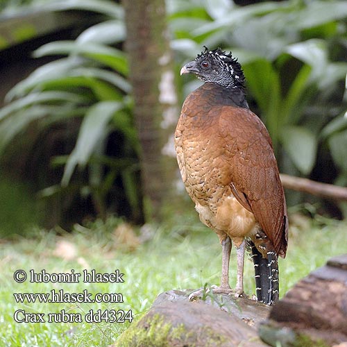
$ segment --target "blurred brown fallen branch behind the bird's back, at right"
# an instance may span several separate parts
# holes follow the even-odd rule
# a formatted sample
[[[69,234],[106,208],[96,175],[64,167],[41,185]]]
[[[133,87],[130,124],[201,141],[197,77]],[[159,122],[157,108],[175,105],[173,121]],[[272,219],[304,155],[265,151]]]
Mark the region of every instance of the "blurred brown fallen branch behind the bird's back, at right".
[[[287,189],[304,192],[321,198],[331,198],[335,200],[347,201],[347,188],[339,187],[337,185],[328,185],[327,183],[320,183],[307,178],[296,176],[289,176],[280,174],[283,187]]]

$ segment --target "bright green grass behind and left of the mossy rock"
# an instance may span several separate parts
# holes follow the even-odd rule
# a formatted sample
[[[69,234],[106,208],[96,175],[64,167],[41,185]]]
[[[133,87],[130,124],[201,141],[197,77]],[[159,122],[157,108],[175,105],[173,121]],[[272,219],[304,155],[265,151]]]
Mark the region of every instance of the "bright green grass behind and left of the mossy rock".
[[[155,296],[169,289],[196,289],[205,282],[219,284],[221,247],[213,232],[201,226],[195,217],[185,224],[160,227],[155,237],[133,252],[119,250],[112,242],[112,230],[119,221],[96,222],[89,228],[76,227],[63,237],[56,232],[33,229],[35,236],[0,242],[1,312],[0,346],[109,346],[127,328],[128,323],[16,323],[16,310],[41,312],[76,312],[89,310],[132,310],[137,319],[149,310]],[[280,260],[281,294],[290,289],[312,269],[322,266],[332,255],[346,253],[347,224],[336,221],[307,223],[305,229],[293,228],[285,260]],[[56,243],[65,239],[76,246],[76,257],[63,260],[54,255]],[[230,263],[230,284],[235,285],[235,252]],[[23,269],[36,273],[67,273],[74,269],[96,269],[124,273],[124,283],[17,283],[13,273]],[[16,303],[13,293],[49,293],[64,289],[79,293],[121,293],[124,303]],[[253,266],[246,261],[245,291],[254,292]]]

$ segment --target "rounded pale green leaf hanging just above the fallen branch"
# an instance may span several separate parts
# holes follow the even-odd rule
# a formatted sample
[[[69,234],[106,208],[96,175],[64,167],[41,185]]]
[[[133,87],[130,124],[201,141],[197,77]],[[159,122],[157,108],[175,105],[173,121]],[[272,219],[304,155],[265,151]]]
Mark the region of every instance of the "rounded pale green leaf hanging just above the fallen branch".
[[[307,128],[286,126],[281,133],[282,144],[302,174],[310,174],[316,160],[317,139]]]

